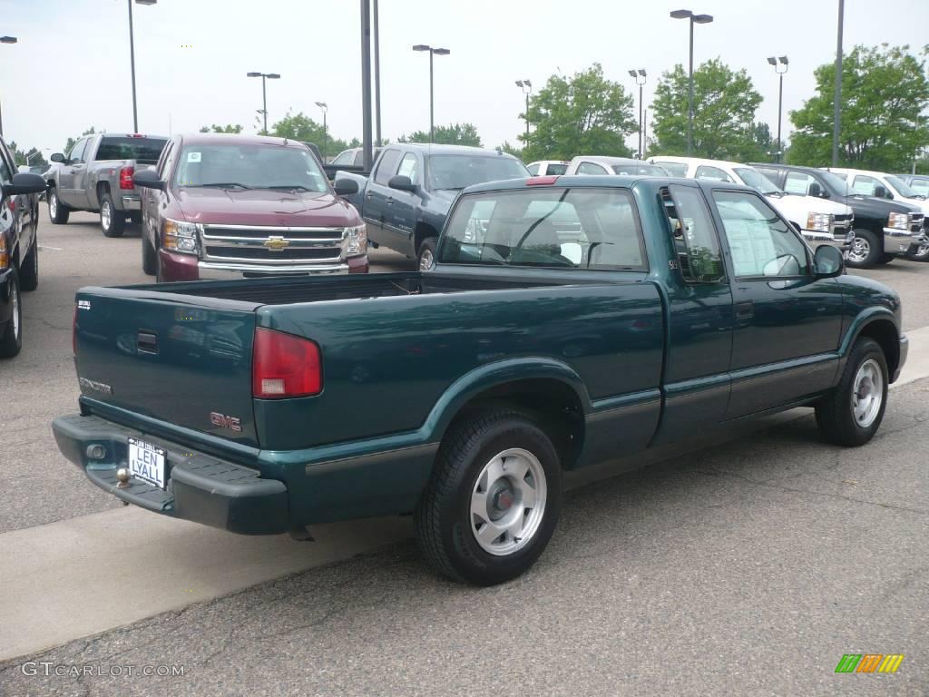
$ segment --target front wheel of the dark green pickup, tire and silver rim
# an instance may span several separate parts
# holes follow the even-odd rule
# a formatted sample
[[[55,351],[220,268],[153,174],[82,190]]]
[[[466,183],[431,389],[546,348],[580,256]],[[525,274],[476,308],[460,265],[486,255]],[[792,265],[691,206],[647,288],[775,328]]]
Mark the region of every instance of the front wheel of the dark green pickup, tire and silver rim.
[[[890,384],[883,350],[873,339],[855,342],[839,385],[816,405],[819,431],[836,445],[870,441],[883,420]]]

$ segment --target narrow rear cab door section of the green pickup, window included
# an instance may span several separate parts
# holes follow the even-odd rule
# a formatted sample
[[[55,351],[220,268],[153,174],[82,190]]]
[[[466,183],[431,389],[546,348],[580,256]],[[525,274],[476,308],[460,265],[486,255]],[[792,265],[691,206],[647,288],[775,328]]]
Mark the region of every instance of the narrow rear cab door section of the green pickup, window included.
[[[667,275],[664,412],[655,443],[726,419],[732,354],[732,291],[710,209],[693,184],[661,190],[674,258]]]

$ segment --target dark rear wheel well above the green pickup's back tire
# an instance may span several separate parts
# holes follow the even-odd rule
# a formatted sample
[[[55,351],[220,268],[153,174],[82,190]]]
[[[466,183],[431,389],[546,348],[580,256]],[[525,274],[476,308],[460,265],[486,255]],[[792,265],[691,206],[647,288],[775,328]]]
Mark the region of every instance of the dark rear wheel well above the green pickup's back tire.
[[[583,445],[583,409],[577,393],[566,383],[539,378],[487,389],[464,404],[449,428],[477,412],[502,409],[527,414],[552,440],[561,466],[574,467]]]

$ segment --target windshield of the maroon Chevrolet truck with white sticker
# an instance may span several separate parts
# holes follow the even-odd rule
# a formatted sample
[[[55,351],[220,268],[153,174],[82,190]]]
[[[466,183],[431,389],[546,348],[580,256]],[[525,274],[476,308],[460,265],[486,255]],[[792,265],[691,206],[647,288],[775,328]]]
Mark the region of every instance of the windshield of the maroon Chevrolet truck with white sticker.
[[[329,191],[310,151],[269,143],[186,145],[180,153],[174,182],[184,187]]]

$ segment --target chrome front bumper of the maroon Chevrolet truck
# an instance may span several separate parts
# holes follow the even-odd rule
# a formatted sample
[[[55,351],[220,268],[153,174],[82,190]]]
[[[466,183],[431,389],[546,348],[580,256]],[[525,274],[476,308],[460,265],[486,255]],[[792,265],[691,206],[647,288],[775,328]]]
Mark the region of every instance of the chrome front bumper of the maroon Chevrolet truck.
[[[163,281],[232,280],[258,276],[308,276],[318,273],[367,273],[368,256],[353,256],[338,264],[219,264],[197,256],[158,250]]]

